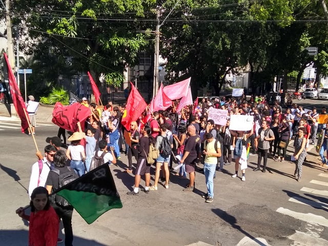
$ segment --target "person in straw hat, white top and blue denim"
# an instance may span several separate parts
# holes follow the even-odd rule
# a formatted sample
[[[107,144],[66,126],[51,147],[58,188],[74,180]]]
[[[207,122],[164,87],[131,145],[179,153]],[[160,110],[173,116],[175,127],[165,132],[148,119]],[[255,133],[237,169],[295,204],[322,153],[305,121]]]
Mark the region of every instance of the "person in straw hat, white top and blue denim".
[[[80,145],[81,139],[84,138],[84,133],[74,132],[72,136],[68,138],[71,141],[71,145],[67,148],[66,156],[71,160],[71,168],[76,172],[78,176],[85,174],[84,161],[86,160],[86,152],[82,145]]]

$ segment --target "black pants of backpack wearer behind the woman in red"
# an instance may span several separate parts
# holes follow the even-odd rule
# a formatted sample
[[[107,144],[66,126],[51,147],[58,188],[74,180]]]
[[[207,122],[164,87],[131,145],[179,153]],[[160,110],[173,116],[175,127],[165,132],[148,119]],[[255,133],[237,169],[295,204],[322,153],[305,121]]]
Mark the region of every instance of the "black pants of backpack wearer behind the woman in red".
[[[63,221],[64,231],[65,231],[65,246],[73,245],[73,229],[72,229],[72,214],[73,207],[61,207],[57,204],[52,204],[52,207],[56,211],[59,219]]]

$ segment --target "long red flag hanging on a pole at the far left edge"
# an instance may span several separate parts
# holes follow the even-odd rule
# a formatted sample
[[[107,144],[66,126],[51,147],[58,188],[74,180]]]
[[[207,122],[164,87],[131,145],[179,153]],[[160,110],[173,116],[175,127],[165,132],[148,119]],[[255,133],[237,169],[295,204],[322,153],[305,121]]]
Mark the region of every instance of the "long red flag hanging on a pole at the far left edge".
[[[27,112],[26,105],[25,105],[24,99],[22,97],[22,94],[20,94],[19,88],[16,84],[15,76],[9,65],[7,54],[4,53],[4,56],[5,56],[7,68],[8,68],[8,80],[9,80],[9,86],[10,86],[10,94],[12,97],[12,101],[13,101],[15,110],[16,110],[20,120],[22,121],[22,128],[25,131],[29,128],[28,120],[30,120],[30,119],[26,118],[26,115],[24,113],[24,110],[25,110],[25,112]],[[29,117],[29,116],[27,116],[27,117]]]

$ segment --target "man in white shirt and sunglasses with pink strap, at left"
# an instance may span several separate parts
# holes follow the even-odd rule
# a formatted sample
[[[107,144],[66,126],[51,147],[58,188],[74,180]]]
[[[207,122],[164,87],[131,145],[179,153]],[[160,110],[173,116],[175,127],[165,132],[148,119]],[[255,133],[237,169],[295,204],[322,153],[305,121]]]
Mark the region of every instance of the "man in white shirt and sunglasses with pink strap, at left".
[[[42,163],[36,161],[32,165],[32,172],[30,177],[30,185],[29,185],[29,195],[36,187],[42,186],[45,187],[48,173],[53,167],[53,156],[56,153],[57,149],[52,145],[47,145],[45,147],[45,157],[41,160]]]

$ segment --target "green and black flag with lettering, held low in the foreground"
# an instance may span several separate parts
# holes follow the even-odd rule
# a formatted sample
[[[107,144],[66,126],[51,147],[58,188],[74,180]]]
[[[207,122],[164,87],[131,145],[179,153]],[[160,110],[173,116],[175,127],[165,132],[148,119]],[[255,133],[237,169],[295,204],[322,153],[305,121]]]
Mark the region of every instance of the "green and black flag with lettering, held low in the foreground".
[[[122,208],[108,164],[92,170],[58,189],[88,224],[110,209]]]

